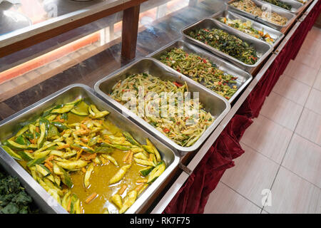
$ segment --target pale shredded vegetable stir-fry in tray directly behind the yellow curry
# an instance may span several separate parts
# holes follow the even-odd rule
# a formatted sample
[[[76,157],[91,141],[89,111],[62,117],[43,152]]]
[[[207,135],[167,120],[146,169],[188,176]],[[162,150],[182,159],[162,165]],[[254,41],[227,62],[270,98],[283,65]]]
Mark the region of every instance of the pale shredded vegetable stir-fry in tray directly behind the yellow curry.
[[[143,95],[140,95],[139,88],[143,90]],[[156,93],[158,98],[148,96],[148,92]],[[170,140],[178,145],[189,147],[193,145],[200,135],[210,126],[214,118],[213,116],[203,110],[201,103],[198,103],[198,99],[190,98],[190,108],[197,113],[180,113],[181,109],[178,108],[179,104],[183,105],[184,93],[188,92],[188,86],[172,81],[162,81],[160,78],[151,76],[147,73],[133,74],[126,79],[118,81],[110,93],[111,98],[118,101],[121,104],[127,103],[123,100],[124,93],[131,93],[136,99],[136,103],[133,104],[136,107],[140,107],[138,104],[139,97],[145,100],[145,106],[148,110],[155,110],[155,112],[148,112],[142,116],[147,123],[153,125],[157,130],[166,135]],[[165,94],[168,93],[167,96]],[[170,95],[173,93],[173,95]],[[164,109],[168,115],[161,113],[163,108],[155,109],[153,104],[160,104],[165,100]],[[172,99],[171,99],[172,98]],[[193,105],[198,103],[199,110]],[[163,106],[162,106],[163,107]],[[146,110],[146,108],[145,108]],[[140,113],[140,110],[133,110],[136,115]],[[196,115],[195,115],[196,114]]]

